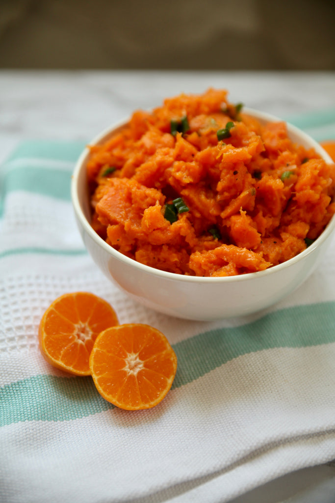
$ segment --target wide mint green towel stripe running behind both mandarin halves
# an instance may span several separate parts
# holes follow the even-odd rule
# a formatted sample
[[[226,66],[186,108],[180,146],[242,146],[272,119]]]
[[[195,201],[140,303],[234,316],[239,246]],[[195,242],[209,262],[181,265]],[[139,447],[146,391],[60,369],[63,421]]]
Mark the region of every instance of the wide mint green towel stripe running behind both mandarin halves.
[[[172,388],[184,386],[241,355],[333,342],[334,302],[272,312],[252,323],[209,330],[175,344],[178,369]],[[42,375],[0,388],[0,403],[0,426],[20,421],[73,420],[113,407],[100,397],[90,377]]]

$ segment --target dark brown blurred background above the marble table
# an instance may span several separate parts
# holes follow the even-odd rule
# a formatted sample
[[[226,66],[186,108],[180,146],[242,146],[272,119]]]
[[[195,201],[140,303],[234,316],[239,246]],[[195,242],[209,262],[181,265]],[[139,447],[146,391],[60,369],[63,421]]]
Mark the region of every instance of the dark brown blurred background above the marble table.
[[[0,0],[0,67],[334,70],[335,1]]]

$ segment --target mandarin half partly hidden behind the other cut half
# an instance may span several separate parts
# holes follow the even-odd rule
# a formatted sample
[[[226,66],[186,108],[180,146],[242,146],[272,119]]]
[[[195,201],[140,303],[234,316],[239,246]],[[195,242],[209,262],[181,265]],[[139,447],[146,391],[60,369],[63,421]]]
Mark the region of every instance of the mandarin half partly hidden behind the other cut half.
[[[40,350],[54,367],[75,375],[89,375],[89,355],[98,334],[118,324],[105,300],[89,292],[58,297],[42,316]]]

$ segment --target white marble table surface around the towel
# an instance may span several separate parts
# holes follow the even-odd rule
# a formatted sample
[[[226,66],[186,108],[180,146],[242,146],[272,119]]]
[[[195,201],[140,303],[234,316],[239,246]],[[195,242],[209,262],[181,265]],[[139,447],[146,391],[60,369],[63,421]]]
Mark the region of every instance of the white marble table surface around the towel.
[[[23,140],[89,141],[135,109],[209,87],[286,120],[335,108],[335,72],[2,70],[0,162]],[[234,503],[333,503],[334,482],[335,463],[328,463],[281,477]]]

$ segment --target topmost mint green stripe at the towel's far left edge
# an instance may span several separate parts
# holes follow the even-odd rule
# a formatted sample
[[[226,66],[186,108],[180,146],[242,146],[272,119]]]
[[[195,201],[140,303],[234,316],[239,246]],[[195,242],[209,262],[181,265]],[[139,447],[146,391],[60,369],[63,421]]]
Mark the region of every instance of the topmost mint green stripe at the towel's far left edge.
[[[85,141],[27,140],[20,143],[8,160],[20,157],[42,157],[52,160],[75,161],[85,148]]]

